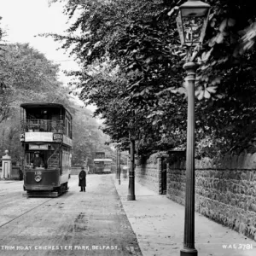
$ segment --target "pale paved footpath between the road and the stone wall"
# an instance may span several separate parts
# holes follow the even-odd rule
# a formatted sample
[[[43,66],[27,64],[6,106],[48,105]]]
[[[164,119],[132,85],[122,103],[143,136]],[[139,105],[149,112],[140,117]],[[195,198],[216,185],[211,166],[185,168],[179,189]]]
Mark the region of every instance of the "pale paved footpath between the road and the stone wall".
[[[135,183],[136,201],[127,201],[128,178],[122,178],[121,184],[114,176],[113,180],[143,256],[180,255],[184,207],[139,183]],[[195,212],[195,248],[198,256],[256,255],[256,241],[198,212]]]

